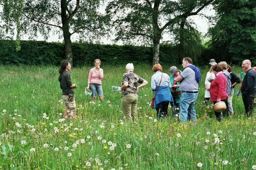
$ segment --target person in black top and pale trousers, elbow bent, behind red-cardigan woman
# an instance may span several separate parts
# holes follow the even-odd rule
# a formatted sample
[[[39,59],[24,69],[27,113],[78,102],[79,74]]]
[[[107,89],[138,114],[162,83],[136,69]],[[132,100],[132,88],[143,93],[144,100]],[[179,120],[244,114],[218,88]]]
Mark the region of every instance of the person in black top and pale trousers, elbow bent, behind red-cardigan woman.
[[[241,82],[240,78],[234,73],[232,72],[232,67],[230,65],[227,65],[228,68],[228,72],[231,76],[231,87],[230,87],[230,92],[229,92],[229,96],[228,96],[228,111],[229,111],[229,115],[233,115],[234,111],[233,111],[233,107],[232,107],[232,98],[233,98],[233,94],[234,94],[234,88],[235,85],[239,84]]]

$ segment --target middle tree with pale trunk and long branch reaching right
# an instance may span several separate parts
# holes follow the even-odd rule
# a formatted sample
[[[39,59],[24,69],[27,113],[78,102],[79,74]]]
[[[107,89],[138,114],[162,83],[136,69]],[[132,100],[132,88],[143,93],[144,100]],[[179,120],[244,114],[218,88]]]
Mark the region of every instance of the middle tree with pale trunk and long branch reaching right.
[[[159,62],[159,44],[163,33],[174,37],[181,22],[189,25],[189,16],[199,12],[213,0],[113,0],[107,6],[112,16],[116,41],[144,42],[153,45],[153,64]],[[189,26],[191,28],[191,25]],[[193,29],[195,31],[195,29]],[[192,32],[193,32],[192,31]],[[187,34],[189,35],[189,34]],[[179,39],[181,40],[181,39]]]

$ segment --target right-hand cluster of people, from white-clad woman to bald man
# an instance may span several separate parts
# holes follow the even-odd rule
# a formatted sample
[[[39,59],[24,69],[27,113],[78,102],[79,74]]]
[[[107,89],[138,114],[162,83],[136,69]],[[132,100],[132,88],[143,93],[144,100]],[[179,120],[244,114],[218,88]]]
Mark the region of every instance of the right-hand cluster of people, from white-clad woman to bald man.
[[[246,64],[245,64],[246,62]],[[242,82],[243,77],[240,78],[232,72],[232,67],[228,65],[225,61],[219,62],[218,64],[214,59],[210,60],[211,68],[207,72],[205,78],[205,96],[204,101],[211,100],[213,104],[216,104],[220,101],[225,102],[226,110],[222,112],[214,112],[217,120],[220,122],[222,116],[233,115],[232,107],[232,98],[234,94],[234,87],[236,84]],[[244,60],[242,64],[243,73],[249,72],[248,78],[246,78],[246,83],[241,83],[237,96],[240,94],[240,91],[243,88],[242,98],[245,106],[245,111],[247,116],[253,114],[253,100],[256,93],[256,73],[251,68],[250,60]],[[241,73],[241,75],[243,75]],[[249,83],[249,84],[248,84]],[[251,95],[251,98],[248,100],[248,96]],[[249,102],[250,101],[250,102]]]

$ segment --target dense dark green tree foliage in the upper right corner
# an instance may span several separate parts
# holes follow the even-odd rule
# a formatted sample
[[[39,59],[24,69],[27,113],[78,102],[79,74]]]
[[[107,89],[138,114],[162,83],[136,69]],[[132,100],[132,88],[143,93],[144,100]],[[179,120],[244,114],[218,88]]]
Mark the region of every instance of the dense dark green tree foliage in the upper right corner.
[[[250,59],[256,63],[256,2],[217,0],[213,5],[216,24],[209,30],[210,47],[222,61],[232,58],[237,64]]]

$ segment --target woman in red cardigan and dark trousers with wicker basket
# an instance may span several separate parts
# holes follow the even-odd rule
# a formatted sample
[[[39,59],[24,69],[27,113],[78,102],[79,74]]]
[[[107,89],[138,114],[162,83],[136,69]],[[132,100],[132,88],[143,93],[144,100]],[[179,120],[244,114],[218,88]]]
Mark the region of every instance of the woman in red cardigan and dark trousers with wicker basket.
[[[212,81],[210,86],[210,96],[213,104],[220,101],[226,102],[227,92],[226,92],[226,77],[222,73],[222,67],[216,64],[212,67],[213,73],[215,74],[215,79]],[[222,113],[214,111],[217,120],[220,122],[222,119]]]

